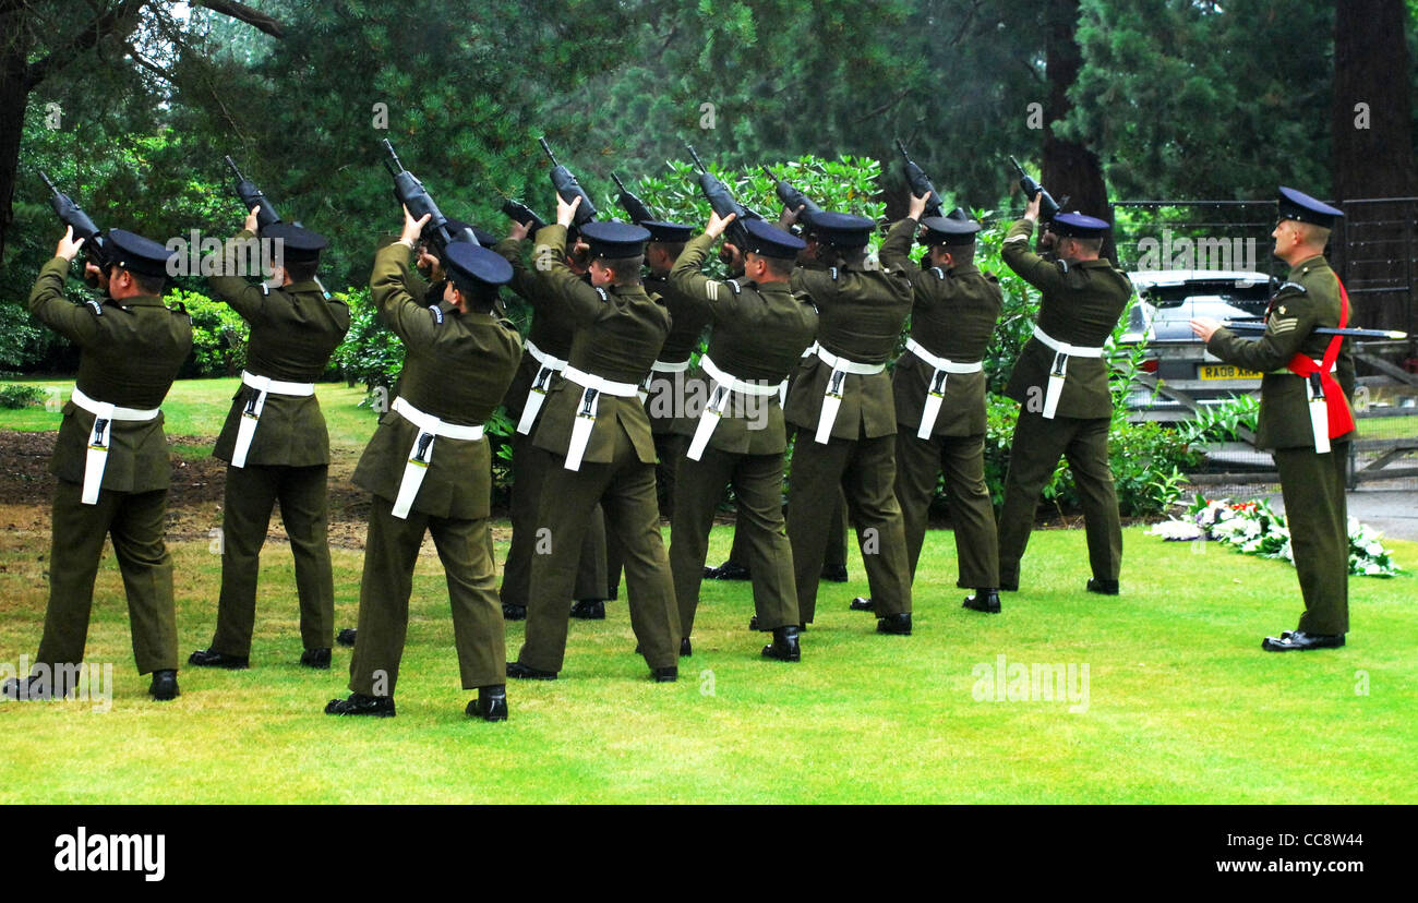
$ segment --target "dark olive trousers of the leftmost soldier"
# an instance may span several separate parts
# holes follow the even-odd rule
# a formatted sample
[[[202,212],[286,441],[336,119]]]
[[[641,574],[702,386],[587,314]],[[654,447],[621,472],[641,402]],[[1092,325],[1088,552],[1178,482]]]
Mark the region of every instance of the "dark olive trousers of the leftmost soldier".
[[[138,673],[177,668],[177,614],[173,608],[173,560],[163,543],[167,490],[113,492],[84,505],[79,483],[58,481],[50,542],[50,604],[35,663],[51,669],[84,661],[94,578],[104,537],[123,574],[128,621]]]

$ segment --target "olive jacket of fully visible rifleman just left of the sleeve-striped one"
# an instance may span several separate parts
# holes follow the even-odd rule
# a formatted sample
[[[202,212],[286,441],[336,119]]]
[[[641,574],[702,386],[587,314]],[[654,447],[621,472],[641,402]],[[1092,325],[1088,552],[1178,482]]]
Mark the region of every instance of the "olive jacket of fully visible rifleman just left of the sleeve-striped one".
[[[640,285],[600,289],[579,279],[566,265],[564,227],[547,225],[536,234],[536,244],[552,249],[552,268],[543,278],[576,327],[567,359],[570,366],[614,383],[642,383],[669,335],[669,312]],[[630,435],[641,464],[655,464],[649,415],[640,397],[601,394],[598,398],[596,427],[581,459],[611,464],[618,424]],[[532,439],[537,448],[566,455],[580,400],[581,388],[567,380],[552,387]]]

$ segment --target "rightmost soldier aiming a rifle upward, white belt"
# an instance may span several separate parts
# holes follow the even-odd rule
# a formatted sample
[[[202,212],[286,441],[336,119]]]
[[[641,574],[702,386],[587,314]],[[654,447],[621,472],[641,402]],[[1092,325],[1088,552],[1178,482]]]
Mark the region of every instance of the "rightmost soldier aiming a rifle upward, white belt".
[[[1107,462],[1113,397],[1103,342],[1127,308],[1132,285],[1098,252],[1107,223],[1079,213],[1054,217],[1058,259],[1029,251],[1039,197],[1004,238],[1004,262],[1039,289],[1039,322],[1010,374],[1005,393],[1021,403],[1000,510],[1000,588],[1020,588],[1020,559],[1034,512],[1059,455],[1068,458],[1083,503],[1090,593],[1117,595],[1123,529]]]

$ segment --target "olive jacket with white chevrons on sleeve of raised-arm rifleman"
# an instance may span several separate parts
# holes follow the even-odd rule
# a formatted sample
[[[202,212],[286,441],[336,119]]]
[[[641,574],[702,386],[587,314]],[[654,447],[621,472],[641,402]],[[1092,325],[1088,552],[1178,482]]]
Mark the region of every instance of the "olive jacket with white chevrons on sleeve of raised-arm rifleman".
[[[669,281],[686,302],[713,318],[708,356],[720,370],[746,381],[781,383],[817,335],[817,310],[787,282],[716,282],[705,276],[699,268],[713,242],[699,235],[685,245]],[[709,391],[709,378],[698,370],[685,394],[708,404]],[[699,420],[689,422],[698,425]],[[709,447],[739,455],[783,454],[787,428],[777,394],[732,393]]]

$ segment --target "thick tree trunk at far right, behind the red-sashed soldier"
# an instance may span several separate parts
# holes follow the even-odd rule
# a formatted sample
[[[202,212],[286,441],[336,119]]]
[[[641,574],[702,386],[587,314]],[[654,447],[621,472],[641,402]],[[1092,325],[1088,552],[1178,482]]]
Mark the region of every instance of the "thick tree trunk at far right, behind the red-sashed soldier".
[[[1418,204],[1358,203],[1418,194],[1407,24],[1402,0],[1337,4],[1330,166],[1344,220],[1332,237],[1332,255],[1356,325],[1414,335]]]

